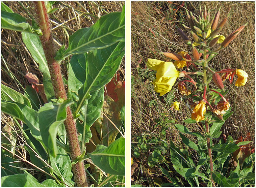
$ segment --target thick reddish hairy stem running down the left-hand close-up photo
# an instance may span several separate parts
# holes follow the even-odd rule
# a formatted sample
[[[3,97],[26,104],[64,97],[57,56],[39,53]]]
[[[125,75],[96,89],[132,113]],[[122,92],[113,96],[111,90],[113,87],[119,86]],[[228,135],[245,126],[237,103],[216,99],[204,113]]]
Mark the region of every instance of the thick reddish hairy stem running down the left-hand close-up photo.
[[[59,63],[54,59],[56,48],[53,42],[50,29],[50,21],[46,11],[44,1],[35,1],[35,19],[37,20],[40,29],[42,30],[43,36],[40,37],[42,42],[43,50],[46,56],[47,64],[49,67],[53,89],[56,98],[67,99],[67,94],[62,80],[61,69]],[[70,107],[67,107],[67,118],[64,122],[67,137],[69,141],[71,160],[73,161],[79,155],[81,155],[76,124],[73,119],[73,115]],[[84,170],[83,162],[78,162],[72,165],[74,173],[75,183],[78,187],[88,187],[86,180],[86,173]]]

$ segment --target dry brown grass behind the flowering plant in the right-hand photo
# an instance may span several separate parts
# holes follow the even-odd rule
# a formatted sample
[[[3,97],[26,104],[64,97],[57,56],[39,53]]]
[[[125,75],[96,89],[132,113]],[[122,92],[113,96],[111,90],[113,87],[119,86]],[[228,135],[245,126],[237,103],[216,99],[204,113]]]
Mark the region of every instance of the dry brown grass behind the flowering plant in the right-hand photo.
[[[175,29],[177,25],[183,32],[187,32],[182,24],[188,26],[185,10],[199,15],[199,6],[210,9],[211,17],[221,7],[220,21],[231,12],[231,15],[220,32],[228,36],[232,31],[248,22],[245,29],[219,52],[209,63],[209,66],[222,70],[225,68],[239,68],[248,73],[248,82],[244,87],[236,87],[234,82],[225,81],[226,98],[231,103],[234,112],[223,125],[221,131],[231,135],[234,139],[245,137],[250,132],[255,145],[255,2],[131,2],[131,142],[136,144],[140,135],[158,136],[161,132],[155,120],[164,113],[169,120],[176,122],[167,130],[167,140],[173,140],[176,146],[184,148],[179,131],[174,124],[185,125],[183,120],[191,117],[191,111],[186,105],[186,99],[178,93],[176,82],[170,94],[159,97],[150,83],[155,78],[154,71],[150,71],[146,62],[148,58],[172,61],[160,52],[187,51],[190,48],[184,43]],[[188,34],[189,35],[189,34]],[[193,38],[189,35],[192,41]],[[191,53],[190,53],[191,55]],[[181,71],[181,70],[180,70]],[[177,80],[181,80],[178,78]],[[211,87],[216,88],[212,85]],[[181,102],[180,111],[169,111],[173,101]],[[190,131],[202,132],[202,128],[195,124],[186,124]],[[222,137],[222,135],[221,135]],[[152,151],[151,151],[152,152]],[[147,171],[147,157],[151,154],[140,154],[139,165]],[[133,151],[131,151],[133,156]],[[138,171],[136,172],[137,174]],[[154,176],[154,175],[152,175]],[[157,176],[157,175],[155,175]]]

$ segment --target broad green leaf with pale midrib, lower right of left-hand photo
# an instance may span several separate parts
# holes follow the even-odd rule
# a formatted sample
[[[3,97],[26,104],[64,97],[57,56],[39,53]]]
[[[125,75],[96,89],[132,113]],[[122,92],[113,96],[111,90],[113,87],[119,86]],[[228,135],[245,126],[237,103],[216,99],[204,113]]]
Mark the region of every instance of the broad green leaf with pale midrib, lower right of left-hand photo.
[[[125,138],[118,138],[108,147],[97,145],[89,156],[106,173],[125,176]]]

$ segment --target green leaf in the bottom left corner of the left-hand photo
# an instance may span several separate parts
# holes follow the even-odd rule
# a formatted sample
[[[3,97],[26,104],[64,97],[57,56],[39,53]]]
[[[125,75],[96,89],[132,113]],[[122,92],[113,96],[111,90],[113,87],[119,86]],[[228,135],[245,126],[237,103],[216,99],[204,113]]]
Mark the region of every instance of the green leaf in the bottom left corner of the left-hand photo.
[[[1,178],[2,187],[45,187],[31,174],[24,170],[24,174],[4,176]]]

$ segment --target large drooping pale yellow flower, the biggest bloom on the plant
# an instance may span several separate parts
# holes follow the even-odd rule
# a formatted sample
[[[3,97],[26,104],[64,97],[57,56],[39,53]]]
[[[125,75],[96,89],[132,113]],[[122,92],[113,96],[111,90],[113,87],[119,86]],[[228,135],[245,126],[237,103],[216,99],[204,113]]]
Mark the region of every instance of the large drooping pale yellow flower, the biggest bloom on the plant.
[[[176,70],[174,64],[157,59],[148,59],[147,67],[151,70],[156,70],[156,79],[152,82],[154,90],[160,93],[160,96],[171,91],[180,73]]]

